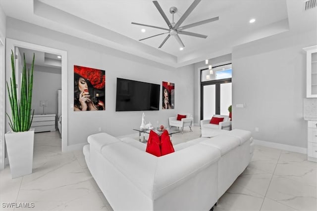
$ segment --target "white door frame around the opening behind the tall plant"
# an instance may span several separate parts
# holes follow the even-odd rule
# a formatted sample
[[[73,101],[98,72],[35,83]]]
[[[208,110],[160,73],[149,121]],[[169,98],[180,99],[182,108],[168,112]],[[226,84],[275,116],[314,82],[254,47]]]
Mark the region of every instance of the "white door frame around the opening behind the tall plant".
[[[53,53],[61,55],[61,98],[62,98],[62,133],[61,133],[61,151],[66,152],[67,151],[67,51],[47,47],[43,45],[33,44],[29,42],[23,42],[18,40],[12,40],[7,38],[6,39],[6,80],[10,80],[11,77],[11,61],[10,61],[10,55],[11,55],[11,49],[13,50],[14,47],[22,47],[22,48],[28,48],[32,50],[37,51],[43,51],[47,53]],[[10,112],[10,104],[8,102],[8,98],[6,96],[6,108],[8,108],[7,112]],[[6,131],[9,131],[8,123],[6,118]]]

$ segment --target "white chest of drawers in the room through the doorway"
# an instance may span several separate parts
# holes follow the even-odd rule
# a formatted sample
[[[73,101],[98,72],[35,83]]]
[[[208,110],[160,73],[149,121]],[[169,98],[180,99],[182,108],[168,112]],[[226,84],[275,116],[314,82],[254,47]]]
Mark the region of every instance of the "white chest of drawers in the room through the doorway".
[[[56,114],[34,115],[31,128],[35,132],[55,131]]]

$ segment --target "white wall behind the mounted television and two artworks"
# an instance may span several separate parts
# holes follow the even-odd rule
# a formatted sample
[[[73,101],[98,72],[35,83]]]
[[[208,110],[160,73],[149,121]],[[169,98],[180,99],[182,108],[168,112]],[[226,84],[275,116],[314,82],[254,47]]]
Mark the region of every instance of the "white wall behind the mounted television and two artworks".
[[[99,127],[115,136],[135,133],[132,128],[140,127],[142,111],[115,112],[117,77],[160,85],[162,81],[175,84],[175,109],[146,111],[147,122],[159,121],[167,126],[168,117],[182,111],[194,112],[193,65],[171,68],[12,18],[7,18],[7,37],[67,51],[68,145],[86,142],[88,135],[99,132]],[[73,111],[74,65],[106,71],[106,111]]]

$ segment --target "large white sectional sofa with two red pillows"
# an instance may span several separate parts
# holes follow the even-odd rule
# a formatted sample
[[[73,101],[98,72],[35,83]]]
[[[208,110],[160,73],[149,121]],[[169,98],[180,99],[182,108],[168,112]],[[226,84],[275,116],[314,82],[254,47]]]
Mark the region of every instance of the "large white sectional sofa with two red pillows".
[[[115,211],[209,211],[253,153],[251,132],[239,129],[174,145],[161,157],[107,133],[90,135],[88,143],[87,166]]]

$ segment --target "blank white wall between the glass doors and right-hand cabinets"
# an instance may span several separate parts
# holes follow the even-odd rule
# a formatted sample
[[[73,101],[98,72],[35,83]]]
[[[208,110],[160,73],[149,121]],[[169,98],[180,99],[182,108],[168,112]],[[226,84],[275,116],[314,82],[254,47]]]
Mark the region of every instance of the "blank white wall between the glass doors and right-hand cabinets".
[[[307,148],[303,47],[316,45],[316,38],[316,30],[287,32],[234,47],[233,128],[250,130],[258,140]],[[246,107],[236,108],[240,103]]]

